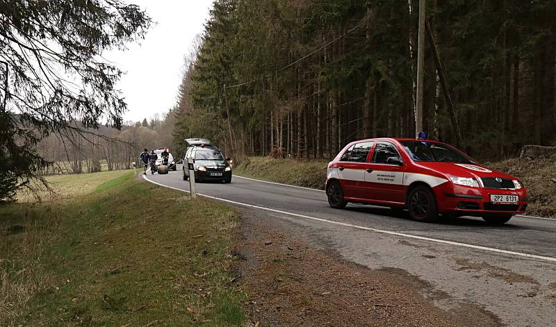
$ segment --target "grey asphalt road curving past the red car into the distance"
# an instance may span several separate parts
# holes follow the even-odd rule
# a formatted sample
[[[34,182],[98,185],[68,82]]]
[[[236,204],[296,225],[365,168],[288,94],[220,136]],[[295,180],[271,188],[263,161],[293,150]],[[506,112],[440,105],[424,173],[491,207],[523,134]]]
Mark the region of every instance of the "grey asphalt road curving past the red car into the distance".
[[[149,181],[189,190],[178,171]],[[448,310],[471,301],[507,326],[556,326],[556,220],[514,217],[504,226],[463,217],[437,224],[373,206],[329,208],[324,192],[234,176],[197,192],[269,219],[286,219],[371,269],[397,268],[430,283],[425,296]]]

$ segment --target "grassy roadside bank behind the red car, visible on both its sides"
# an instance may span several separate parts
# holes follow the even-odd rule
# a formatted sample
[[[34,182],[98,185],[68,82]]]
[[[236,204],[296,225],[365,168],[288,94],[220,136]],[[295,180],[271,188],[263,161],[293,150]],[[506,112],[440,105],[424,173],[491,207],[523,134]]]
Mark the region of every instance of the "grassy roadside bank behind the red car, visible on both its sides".
[[[556,162],[550,159],[509,159],[488,162],[487,167],[521,178],[527,187],[530,204],[527,215],[556,217]],[[324,190],[327,162],[251,157],[234,174],[263,181]]]

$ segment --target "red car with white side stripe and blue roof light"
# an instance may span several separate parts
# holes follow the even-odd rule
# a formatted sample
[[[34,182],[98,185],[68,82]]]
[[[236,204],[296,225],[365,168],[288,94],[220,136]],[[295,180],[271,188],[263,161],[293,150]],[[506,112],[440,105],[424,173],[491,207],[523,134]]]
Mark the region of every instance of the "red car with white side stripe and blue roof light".
[[[326,193],[332,208],[348,202],[405,208],[418,221],[441,214],[504,224],[528,204],[518,178],[483,167],[448,144],[407,138],[347,144],[328,164]]]

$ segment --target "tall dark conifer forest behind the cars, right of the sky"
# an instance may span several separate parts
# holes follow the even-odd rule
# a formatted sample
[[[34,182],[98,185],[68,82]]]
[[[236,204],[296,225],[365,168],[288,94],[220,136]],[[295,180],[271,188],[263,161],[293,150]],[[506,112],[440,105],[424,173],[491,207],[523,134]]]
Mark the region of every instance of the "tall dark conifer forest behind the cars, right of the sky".
[[[359,138],[413,137],[417,17],[418,0],[215,1],[174,141],[331,158]],[[456,143],[459,128],[478,158],[554,144],[554,17],[556,0],[427,1],[425,131]]]

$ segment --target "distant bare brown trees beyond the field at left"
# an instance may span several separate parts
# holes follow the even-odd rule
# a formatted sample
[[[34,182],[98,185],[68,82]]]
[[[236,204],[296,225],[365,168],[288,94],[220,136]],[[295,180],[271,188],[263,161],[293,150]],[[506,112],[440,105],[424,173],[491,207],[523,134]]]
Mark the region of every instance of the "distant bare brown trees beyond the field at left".
[[[41,169],[41,174],[81,174],[101,170],[133,168],[143,149],[172,146],[174,114],[170,110],[163,117],[154,115],[142,122],[128,121],[121,130],[101,127],[75,128],[63,133],[53,133],[38,144],[38,153],[51,165]],[[179,157],[179,156],[178,156]]]

